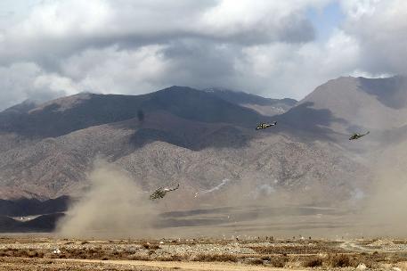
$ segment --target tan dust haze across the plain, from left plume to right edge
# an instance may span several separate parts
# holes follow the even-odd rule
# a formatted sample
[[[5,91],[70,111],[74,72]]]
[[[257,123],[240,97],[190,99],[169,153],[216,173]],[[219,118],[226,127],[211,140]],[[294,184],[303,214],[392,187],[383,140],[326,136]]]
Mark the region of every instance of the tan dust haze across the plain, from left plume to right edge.
[[[85,238],[243,233],[407,236],[407,169],[403,167],[407,143],[375,153],[369,153],[369,189],[364,187],[363,197],[352,204],[333,200],[337,188],[329,193],[308,184],[306,191],[287,192],[265,179],[221,180],[205,191],[210,193],[193,193],[182,187],[155,204],[123,169],[98,161],[88,177],[88,192],[60,221],[58,233]]]

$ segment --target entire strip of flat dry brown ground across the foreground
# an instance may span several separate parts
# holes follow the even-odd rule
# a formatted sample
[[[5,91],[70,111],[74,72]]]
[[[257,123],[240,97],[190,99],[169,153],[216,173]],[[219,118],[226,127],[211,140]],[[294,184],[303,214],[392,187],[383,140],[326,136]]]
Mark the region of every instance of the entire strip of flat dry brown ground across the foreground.
[[[0,238],[0,270],[407,270],[405,240]]]

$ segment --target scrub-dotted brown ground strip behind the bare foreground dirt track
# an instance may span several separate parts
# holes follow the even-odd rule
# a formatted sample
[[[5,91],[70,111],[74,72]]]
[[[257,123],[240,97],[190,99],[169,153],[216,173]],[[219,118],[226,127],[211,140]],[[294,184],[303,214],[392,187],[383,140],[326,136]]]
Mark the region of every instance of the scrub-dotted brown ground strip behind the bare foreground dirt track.
[[[357,267],[370,269],[396,267],[407,262],[407,250],[387,251],[385,247],[368,250],[370,242],[359,242],[361,250],[345,250],[342,242],[324,241],[241,241],[165,240],[159,242],[110,240],[0,240],[0,259],[98,259],[176,262],[227,262],[252,266],[286,268]],[[398,245],[406,246],[399,241]],[[379,251],[376,251],[379,249]],[[1,262],[1,261],[0,261]],[[1,267],[1,264],[0,264]],[[2,270],[0,268],[0,270]],[[403,270],[403,269],[402,269]]]

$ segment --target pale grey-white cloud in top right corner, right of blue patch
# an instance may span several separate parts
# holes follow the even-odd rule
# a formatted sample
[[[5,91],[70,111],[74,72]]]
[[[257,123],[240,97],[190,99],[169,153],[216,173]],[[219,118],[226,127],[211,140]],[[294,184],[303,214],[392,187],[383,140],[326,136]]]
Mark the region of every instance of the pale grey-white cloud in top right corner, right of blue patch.
[[[344,31],[360,45],[358,68],[372,74],[407,72],[407,2],[370,0],[342,2]]]

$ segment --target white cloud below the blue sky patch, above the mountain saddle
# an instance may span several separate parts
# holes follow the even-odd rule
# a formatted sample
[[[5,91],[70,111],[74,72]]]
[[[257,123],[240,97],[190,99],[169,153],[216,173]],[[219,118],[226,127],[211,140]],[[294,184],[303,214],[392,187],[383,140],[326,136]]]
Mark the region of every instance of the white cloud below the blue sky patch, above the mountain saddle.
[[[353,37],[335,30],[326,43],[251,46],[239,62],[238,85],[274,97],[304,97],[330,78],[349,75],[358,62]]]

